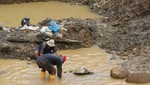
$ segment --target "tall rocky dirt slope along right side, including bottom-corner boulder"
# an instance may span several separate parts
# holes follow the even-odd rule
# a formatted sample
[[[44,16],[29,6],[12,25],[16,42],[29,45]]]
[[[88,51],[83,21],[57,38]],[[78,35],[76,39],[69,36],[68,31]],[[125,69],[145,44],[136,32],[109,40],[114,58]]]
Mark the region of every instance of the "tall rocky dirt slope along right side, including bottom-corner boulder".
[[[64,0],[89,5],[105,15],[97,44],[104,49],[128,56],[122,64],[129,71],[127,82],[150,81],[150,1],[149,0]],[[102,23],[99,23],[102,24]],[[120,74],[120,73],[119,73]],[[116,75],[116,74],[115,74]]]

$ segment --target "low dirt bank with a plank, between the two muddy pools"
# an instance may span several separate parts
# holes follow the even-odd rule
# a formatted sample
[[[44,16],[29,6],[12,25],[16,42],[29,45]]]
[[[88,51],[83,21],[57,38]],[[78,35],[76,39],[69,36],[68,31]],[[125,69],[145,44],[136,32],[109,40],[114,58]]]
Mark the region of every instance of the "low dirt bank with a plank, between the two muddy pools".
[[[63,23],[67,28],[67,32],[62,32],[63,38],[48,37],[40,33],[40,28],[47,26],[49,19],[39,22],[38,30],[21,30],[20,28],[4,28],[0,31],[0,58],[33,58],[34,51],[38,45],[50,38],[55,39],[58,50],[61,49],[76,49],[81,47],[90,47],[93,45],[93,34],[96,34],[93,28],[95,21],[93,19],[62,19],[56,20],[59,24]],[[9,31],[8,31],[9,30]],[[95,35],[96,37],[97,35]],[[69,40],[75,40],[69,41]]]

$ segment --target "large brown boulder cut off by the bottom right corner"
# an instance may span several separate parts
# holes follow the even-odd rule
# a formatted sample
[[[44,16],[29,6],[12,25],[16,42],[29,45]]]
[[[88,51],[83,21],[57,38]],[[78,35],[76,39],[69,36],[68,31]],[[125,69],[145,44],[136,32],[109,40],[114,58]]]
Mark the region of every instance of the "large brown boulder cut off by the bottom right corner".
[[[130,83],[148,83],[150,82],[150,73],[131,73],[126,79]]]

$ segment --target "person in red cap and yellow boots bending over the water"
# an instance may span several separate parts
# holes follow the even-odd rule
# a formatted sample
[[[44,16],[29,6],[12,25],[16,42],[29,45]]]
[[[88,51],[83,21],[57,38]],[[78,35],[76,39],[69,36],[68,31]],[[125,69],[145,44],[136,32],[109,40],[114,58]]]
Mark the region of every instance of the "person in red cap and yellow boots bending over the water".
[[[57,66],[57,76],[62,77],[62,64],[66,61],[66,56],[58,56],[55,54],[44,54],[37,58],[37,64],[42,68],[42,76],[45,75],[47,70],[50,74],[50,78],[54,77],[56,74],[56,69],[53,65]],[[44,76],[45,77],[45,76]]]

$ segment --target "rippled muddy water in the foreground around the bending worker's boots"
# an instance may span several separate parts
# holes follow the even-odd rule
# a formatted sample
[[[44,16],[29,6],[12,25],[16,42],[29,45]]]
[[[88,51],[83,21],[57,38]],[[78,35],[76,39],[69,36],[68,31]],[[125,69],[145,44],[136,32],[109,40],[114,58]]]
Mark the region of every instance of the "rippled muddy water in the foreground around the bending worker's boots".
[[[40,79],[40,68],[33,61],[0,60],[0,85],[136,85],[110,77],[109,71],[120,60],[109,60],[110,54],[98,47],[59,51],[66,54],[63,64],[63,78],[60,80]],[[77,76],[71,71],[85,67],[94,72],[92,75]],[[150,85],[140,84],[140,85]]]

